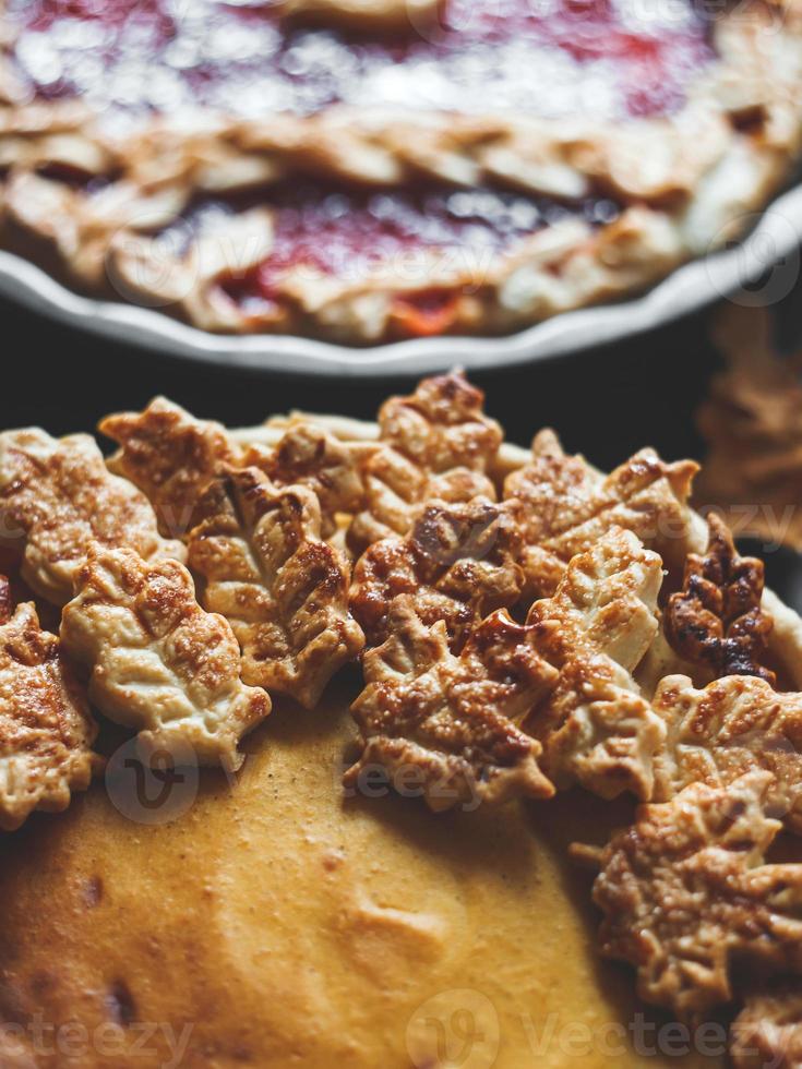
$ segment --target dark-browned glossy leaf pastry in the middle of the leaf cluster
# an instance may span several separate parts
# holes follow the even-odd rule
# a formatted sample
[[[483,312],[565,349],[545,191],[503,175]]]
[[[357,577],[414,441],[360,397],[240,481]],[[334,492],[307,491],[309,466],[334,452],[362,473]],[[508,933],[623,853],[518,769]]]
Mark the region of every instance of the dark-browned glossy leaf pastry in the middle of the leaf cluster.
[[[487,497],[428,505],[405,537],[371,545],[354,568],[351,610],[368,641],[387,636],[393,599],[410,594],[424,624],[445,622],[458,651],[469,628],[520,597],[517,526],[504,506]]]

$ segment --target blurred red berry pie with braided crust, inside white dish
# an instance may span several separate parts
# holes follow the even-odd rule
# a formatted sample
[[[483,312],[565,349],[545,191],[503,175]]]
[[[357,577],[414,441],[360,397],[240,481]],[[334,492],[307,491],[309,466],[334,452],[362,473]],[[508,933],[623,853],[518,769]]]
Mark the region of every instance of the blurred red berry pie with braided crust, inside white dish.
[[[2,242],[206,331],[499,334],[738,235],[798,0],[1,0]]]

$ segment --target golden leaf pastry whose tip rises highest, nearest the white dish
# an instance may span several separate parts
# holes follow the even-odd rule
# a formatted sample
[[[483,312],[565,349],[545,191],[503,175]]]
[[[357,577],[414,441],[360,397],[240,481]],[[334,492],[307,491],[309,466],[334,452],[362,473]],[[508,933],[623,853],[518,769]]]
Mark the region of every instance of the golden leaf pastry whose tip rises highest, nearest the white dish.
[[[405,534],[422,504],[495,496],[487,471],[502,431],[482,411],[484,395],[462,374],[424,379],[409,397],[379,412],[379,447],[363,467],[364,504],[348,530],[356,555],[392,534]]]

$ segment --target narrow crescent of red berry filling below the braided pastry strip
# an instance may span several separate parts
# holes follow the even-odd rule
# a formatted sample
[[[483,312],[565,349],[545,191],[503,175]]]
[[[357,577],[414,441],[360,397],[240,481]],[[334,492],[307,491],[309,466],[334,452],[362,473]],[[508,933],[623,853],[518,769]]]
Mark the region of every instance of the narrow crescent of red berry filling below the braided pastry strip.
[[[260,314],[280,305],[279,287],[288,273],[356,286],[372,277],[396,288],[394,312],[405,333],[417,335],[440,334],[453,322],[456,298],[438,283],[443,272],[470,279],[468,290],[474,290],[499,253],[514,251],[538,230],[572,217],[598,226],[619,212],[608,200],[568,207],[490,189],[359,193],[310,182],[236,205],[199,204],[181,223],[184,240],[210,237],[217,229],[226,233],[231,212],[260,203],[274,212],[273,251],[246,272],[232,264],[220,284],[243,311]]]

